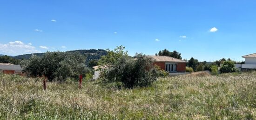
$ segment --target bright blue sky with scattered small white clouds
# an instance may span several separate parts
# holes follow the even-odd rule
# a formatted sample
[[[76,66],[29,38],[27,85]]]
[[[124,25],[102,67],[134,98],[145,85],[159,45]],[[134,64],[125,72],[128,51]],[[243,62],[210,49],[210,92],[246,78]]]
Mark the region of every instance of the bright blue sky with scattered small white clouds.
[[[0,54],[126,47],[214,61],[256,53],[256,0],[2,0]]]

